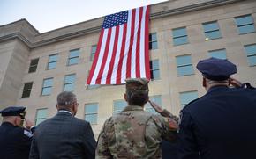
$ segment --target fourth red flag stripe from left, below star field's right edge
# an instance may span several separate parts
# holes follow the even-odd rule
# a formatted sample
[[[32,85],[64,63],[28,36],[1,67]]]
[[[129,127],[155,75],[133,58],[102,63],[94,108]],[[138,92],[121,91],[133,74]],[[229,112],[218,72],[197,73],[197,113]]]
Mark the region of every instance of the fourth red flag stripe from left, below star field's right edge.
[[[117,84],[121,83],[122,63],[123,63],[123,59],[124,59],[124,48],[125,48],[126,33],[127,33],[127,23],[124,24],[122,47],[121,47],[121,52],[120,52],[120,59],[118,61],[118,68],[117,68]]]

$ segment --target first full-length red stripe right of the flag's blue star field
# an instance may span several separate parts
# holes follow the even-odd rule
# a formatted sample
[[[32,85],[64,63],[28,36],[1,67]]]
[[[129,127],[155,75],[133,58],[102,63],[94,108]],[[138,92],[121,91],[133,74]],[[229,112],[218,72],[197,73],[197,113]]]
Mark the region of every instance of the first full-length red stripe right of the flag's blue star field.
[[[134,40],[134,25],[135,25],[135,14],[136,9],[132,10],[132,24],[131,24],[131,36],[130,36],[130,44],[128,49],[128,57],[127,57],[127,64],[126,64],[126,78],[131,77],[131,61],[132,61],[132,44]]]

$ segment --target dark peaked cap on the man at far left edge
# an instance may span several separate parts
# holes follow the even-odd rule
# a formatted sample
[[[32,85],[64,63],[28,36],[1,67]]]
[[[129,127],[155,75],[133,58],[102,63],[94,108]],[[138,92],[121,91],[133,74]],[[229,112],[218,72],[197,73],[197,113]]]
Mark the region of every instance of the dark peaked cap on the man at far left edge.
[[[3,109],[0,111],[2,113],[2,116],[21,116],[24,117],[26,107],[23,106],[10,106],[8,108]]]

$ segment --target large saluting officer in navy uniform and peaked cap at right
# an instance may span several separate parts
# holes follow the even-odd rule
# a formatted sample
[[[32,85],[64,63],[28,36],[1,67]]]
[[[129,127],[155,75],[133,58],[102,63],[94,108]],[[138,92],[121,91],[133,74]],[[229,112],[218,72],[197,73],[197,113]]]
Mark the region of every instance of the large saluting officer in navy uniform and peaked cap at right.
[[[180,159],[255,159],[256,90],[229,88],[237,67],[227,60],[200,61],[207,94],[181,111]]]

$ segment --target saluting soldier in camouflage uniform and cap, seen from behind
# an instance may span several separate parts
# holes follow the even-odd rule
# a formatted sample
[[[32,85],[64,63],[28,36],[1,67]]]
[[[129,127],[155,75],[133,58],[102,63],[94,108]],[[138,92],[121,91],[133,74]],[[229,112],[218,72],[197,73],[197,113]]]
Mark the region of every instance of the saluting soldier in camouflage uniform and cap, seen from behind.
[[[177,123],[173,119],[143,110],[148,82],[145,78],[126,79],[124,98],[128,106],[104,123],[96,158],[162,158],[162,138],[176,140]]]

